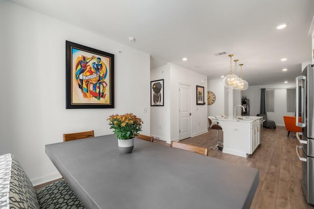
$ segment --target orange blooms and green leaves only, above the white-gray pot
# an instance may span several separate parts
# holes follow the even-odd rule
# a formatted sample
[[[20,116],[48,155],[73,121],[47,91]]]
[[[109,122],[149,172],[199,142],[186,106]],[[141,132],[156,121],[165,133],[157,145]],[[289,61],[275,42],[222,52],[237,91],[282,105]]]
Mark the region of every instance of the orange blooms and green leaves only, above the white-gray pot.
[[[142,131],[142,119],[136,117],[132,113],[124,115],[110,115],[107,118],[110,129],[116,134],[116,138],[119,139],[131,139],[138,135],[139,131]]]

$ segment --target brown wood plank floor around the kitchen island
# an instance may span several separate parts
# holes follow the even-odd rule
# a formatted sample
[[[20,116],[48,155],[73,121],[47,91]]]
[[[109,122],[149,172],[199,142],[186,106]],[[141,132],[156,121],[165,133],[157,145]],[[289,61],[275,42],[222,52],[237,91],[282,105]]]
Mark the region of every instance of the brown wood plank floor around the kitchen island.
[[[301,161],[295,153],[298,144],[295,133],[285,127],[262,130],[262,144],[253,155],[237,157],[222,151],[209,150],[209,156],[260,170],[260,183],[255,193],[251,209],[314,209],[306,203],[301,188]],[[222,134],[220,138],[222,138]],[[155,143],[170,146],[164,141],[154,139]],[[200,147],[216,144],[216,131],[181,140],[182,143]]]

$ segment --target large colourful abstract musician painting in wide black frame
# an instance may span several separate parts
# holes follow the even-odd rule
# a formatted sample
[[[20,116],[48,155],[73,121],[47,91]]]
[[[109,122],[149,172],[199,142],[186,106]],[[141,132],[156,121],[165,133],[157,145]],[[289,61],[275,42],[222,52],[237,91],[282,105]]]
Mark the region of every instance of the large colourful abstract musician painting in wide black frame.
[[[114,108],[114,54],[66,41],[66,108]]]

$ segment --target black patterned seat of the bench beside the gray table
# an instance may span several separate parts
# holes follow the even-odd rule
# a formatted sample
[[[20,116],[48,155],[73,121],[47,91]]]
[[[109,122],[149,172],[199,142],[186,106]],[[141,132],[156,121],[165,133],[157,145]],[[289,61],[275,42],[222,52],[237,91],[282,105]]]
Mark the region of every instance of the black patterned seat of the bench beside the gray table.
[[[64,179],[37,189],[36,195],[41,209],[84,209]]]

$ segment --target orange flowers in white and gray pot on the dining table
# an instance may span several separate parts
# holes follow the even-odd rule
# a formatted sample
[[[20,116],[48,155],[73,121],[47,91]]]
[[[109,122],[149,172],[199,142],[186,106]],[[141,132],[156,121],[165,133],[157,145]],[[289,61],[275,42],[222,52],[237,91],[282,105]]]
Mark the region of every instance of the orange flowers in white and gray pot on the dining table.
[[[126,113],[110,115],[107,120],[110,129],[113,129],[118,139],[120,152],[131,153],[134,147],[134,137],[138,135],[139,131],[142,131],[142,119],[132,113]]]

